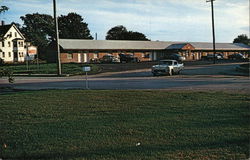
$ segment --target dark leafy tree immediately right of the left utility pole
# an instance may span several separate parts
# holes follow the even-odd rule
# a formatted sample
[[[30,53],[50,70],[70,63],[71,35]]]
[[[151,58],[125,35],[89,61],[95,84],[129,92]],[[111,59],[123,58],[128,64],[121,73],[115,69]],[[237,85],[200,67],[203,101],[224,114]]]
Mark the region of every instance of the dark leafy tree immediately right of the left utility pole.
[[[58,18],[59,37],[66,39],[93,39],[88,24],[76,13],[69,13]]]

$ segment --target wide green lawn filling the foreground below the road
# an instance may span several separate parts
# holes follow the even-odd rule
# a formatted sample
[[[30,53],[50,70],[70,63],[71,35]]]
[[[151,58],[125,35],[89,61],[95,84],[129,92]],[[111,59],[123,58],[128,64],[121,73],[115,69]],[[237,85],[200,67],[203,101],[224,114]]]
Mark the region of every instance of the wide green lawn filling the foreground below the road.
[[[249,158],[248,94],[49,90],[0,99],[3,159]]]

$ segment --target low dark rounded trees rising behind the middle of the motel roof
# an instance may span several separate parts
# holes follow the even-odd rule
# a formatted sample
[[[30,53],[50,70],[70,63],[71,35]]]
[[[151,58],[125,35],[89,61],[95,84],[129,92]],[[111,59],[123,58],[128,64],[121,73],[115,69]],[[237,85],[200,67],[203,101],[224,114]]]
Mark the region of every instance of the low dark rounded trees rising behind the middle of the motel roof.
[[[126,27],[119,25],[111,28],[107,32],[107,40],[141,40],[149,41],[147,37],[140,32],[128,31]]]

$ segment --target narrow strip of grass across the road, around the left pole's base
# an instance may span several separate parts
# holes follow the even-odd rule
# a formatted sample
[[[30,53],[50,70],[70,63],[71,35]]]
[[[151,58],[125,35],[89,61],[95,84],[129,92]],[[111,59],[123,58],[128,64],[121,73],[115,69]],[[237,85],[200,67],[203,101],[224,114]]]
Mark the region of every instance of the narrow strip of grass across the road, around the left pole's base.
[[[77,63],[67,63],[62,65],[62,73],[70,75],[84,74],[82,67],[87,64],[77,64]],[[94,64],[88,64],[91,66],[92,71],[90,74],[98,73],[100,67]],[[13,71],[14,74],[57,74],[57,64],[56,63],[42,63],[37,66],[37,64],[29,64],[27,68],[26,64],[16,64],[16,65],[5,65],[1,68],[9,69]]]

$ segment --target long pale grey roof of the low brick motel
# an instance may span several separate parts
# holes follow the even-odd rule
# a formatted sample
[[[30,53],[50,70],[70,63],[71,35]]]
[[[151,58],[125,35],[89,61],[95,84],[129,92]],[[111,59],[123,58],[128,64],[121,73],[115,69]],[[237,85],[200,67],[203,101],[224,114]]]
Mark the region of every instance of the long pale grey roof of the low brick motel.
[[[208,42],[60,39],[59,44],[65,50],[165,50],[181,49],[187,44],[191,44],[195,50],[213,50],[213,43]],[[241,43],[216,43],[216,50],[250,51],[250,46]]]

